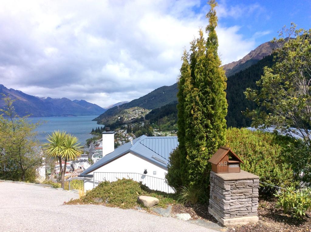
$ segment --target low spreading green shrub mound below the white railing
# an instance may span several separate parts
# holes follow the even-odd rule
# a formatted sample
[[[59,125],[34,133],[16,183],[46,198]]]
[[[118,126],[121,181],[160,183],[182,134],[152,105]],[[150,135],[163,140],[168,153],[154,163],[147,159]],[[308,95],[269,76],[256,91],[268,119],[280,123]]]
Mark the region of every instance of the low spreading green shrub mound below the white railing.
[[[101,182],[95,189],[87,191],[80,199],[72,200],[70,203],[96,204],[95,198],[103,199],[106,206],[120,207],[123,209],[141,206],[137,202],[138,196],[151,196],[159,199],[159,207],[166,207],[166,204],[175,202],[174,194],[150,190],[146,185],[130,179]],[[142,206],[144,207],[144,206]]]

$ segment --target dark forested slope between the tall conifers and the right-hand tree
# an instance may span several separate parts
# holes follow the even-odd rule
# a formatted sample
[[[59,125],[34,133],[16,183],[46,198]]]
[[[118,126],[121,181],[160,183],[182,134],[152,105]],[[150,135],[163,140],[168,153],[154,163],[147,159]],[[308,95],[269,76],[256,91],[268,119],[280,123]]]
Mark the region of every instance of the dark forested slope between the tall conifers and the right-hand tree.
[[[271,67],[272,64],[273,57],[269,55],[244,71],[240,71],[228,77],[226,90],[228,102],[226,120],[228,127],[250,126],[251,120],[244,116],[242,111],[245,111],[246,108],[255,109],[256,105],[254,102],[245,99],[244,91],[246,88],[257,89],[256,81],[262,76],[263,67]]]

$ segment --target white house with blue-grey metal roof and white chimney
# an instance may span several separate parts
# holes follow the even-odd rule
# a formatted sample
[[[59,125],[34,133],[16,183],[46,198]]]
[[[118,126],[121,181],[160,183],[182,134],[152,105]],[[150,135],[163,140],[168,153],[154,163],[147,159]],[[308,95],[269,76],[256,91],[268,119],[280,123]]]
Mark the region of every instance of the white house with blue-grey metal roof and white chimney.
[[[102,181],[127,178],[146,184],[150,189],[174,193],[165,180],[169,154],[178,146],[176,136],[142,135],[114,149],[114,132],[103,132],[103,158],[83,171],[85,191]]]

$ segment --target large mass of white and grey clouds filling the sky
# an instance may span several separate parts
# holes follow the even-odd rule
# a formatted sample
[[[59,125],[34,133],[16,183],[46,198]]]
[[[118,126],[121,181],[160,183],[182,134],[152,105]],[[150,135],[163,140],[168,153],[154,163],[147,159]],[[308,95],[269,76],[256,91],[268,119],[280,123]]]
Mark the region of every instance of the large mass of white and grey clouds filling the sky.
[[[100,106],[130,101],[174,84],[183,48],[208,23],[206,10],[186,0],[2,2],[0,82]],[[219,7],[219,14],[240,13]],[[254,47],[238,26],[217,33],[223,64]]]

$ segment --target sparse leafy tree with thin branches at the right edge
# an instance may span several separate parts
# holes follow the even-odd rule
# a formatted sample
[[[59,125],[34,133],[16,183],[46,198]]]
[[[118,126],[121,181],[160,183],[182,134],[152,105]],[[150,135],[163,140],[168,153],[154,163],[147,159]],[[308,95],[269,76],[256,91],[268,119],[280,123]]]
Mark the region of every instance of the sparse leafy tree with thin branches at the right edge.
[[[264,68],[259,90],[245,92],[259,106],[248,111],[252,126],[300,137],[311,148],[311,29],[296,30],[292,23],[272,42],[280,45],[274,51],[275,65]]]

